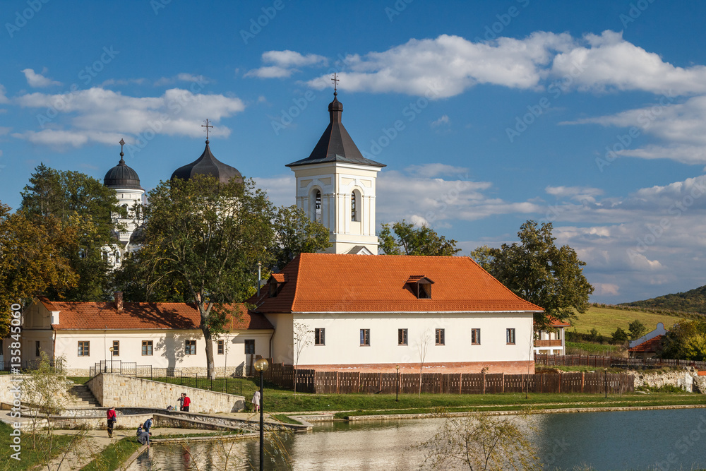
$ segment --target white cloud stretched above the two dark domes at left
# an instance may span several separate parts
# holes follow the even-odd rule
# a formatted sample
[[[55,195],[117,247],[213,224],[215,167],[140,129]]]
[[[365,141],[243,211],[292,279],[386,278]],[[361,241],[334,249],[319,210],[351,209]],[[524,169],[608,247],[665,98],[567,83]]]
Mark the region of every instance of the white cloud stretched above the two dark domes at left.
[[[50,129],[13,136],[38,144],[74,147],[88,141],[112,143],[114,136],[126,136],[130,143],[145,132],[199,137],[203,117],[217,124],[245,109],[239,98],[195,94],[179,88],[166,90],[159,97],[130,97],[103,88],[80,90],[73,95],[30,93],[16,98],[16,102],[22,107],[57,109],[60,103],[61,114],[49,124]],[[59,129],[60,124],[68,125],[68,129]],[[210,133],[225,137],[230,129],[217,125]]]

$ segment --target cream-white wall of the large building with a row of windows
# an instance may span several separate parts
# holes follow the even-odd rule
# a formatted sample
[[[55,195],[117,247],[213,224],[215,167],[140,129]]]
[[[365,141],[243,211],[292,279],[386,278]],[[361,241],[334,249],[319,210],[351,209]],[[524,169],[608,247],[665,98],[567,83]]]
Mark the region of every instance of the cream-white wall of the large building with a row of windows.
[[[300,322],[311,330],[311,345],[301,352],[299,367],[419,364],[419,344],[424,335],[428,342],[425,364],[525,362],[526,365],[532,358],[532,313],[449,313],[433,317],[424,313],[297,313],[277,317],[279,322],[273,342],[275,361],[287,363],[282,358],[292,351],[291,333],[280,335],[285,319],[289,318],[290,325]],[[325,345],[314,345],[316,328],[325,329]],[[481,330],[480,345],[471,343],[473,328]],[[507,342],[508,328],[515,329],[513,345]],[[370,331],[369,346],[361,346],[361,329]],[[407,329],[407,345],[398,345],[398,329]],[[443,329],[444,345],[436,345],[436,329]]]

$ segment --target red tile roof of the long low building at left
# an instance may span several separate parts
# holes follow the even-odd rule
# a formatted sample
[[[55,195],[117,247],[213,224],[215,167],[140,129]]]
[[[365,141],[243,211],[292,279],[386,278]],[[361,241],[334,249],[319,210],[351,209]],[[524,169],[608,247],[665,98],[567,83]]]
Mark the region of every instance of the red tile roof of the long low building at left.
[[[62,329],[198,329],[201,315],[196,304],[126,302],[118,311],[114,302],[50,302],[40,298],[49,311],[59,311]],[[237,316],[230,316],[226,328],[271,329],[270,321],[262,314],[249,312],[242,304],[237,305]]]

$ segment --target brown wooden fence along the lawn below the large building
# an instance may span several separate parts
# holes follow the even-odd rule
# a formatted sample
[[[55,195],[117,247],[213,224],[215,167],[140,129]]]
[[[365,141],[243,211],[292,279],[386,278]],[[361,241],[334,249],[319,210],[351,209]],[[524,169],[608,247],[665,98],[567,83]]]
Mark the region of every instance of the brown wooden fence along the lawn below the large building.
[[[265,379],[282,388],[294,387],[292,365],[270,364]],[[398,386],[399,381],[399,386]],[[634,377],[628,373],[604,371],[551,372],[537,374],[486,373],[376,373],[364,371],[297,370],[297,391],[302,393],[346,394],[493,394],[493,393],[595,393],[633,392]]]

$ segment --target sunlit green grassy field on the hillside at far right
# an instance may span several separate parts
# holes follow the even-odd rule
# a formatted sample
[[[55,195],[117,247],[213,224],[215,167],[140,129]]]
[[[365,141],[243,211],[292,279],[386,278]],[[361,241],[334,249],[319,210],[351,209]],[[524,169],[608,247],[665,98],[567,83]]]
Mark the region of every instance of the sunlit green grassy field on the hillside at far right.
[[[568,330],[575,328],[577,332],[588,333],[595,328],[598,333],[610,336],[618,327],[627,331],[628,324],[635,319],[645,324],[648,332],[657,327],[658,322],[664,323],[664,328],[669,330],[672,324],[682,320],[680,317],[664,314],[591,306],[584,314],[578,314],[578,318],[571,319],[571,327]]]

